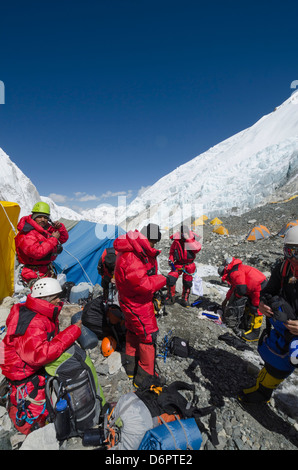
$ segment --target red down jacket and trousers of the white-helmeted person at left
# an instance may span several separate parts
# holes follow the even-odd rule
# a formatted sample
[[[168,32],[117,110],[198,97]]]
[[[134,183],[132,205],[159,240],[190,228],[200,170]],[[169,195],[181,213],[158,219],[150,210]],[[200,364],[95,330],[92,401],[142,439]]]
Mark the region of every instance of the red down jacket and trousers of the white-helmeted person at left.
[[[11,384],[9,415],[23,434],[30,432],[35,422],[42,426],[47,416],[43,366],[57,359],[81,335],[77,325],[59,333],[62,305],[61,302],[54,306],[28,295],[24,304],[11,308],[6,320],[7,332],[0,343],[0,367]],[[18,410],[17,401],[21,398],[26,400],[26,408]],[[21,426],[16,422],[17,411],[19,418],[20,414],[27,417]]]

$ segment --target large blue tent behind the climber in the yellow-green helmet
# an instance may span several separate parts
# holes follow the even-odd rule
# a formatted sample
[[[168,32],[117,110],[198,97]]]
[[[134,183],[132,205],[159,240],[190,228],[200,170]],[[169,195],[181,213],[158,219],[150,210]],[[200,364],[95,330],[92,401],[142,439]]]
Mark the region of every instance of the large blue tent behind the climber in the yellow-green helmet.
[[[100,284],[97,264],[105,248],[113,246],[114,240],[124,234],[121,227],[79,221],[69,230],[69,239],[63,251],[54,261],[59,273],[65,273],[68,282]]]

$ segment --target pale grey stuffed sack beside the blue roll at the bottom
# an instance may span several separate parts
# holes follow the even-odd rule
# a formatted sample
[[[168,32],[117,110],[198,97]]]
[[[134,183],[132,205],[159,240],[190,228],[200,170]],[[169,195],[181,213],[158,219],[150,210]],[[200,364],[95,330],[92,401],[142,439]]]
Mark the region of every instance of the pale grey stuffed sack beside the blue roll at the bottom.
[[[108,449],[138,450],[145,433],[153,427],[151,413],[144,402],[130,392],[120,397],[109,415],[105,415]]]

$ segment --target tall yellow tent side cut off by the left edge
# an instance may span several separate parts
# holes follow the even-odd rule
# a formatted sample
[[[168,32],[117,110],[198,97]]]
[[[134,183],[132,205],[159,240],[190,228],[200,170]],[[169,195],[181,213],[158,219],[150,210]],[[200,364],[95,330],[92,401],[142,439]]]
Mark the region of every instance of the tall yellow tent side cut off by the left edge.
[[[20,206],[16,202],[0,201],[0,302],[13,294],[15,244]]]

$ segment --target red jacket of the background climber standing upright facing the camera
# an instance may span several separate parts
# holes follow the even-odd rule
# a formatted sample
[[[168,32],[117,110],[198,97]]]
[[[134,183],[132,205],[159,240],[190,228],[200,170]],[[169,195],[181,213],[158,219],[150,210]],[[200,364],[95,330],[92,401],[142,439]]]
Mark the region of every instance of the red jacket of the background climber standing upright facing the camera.
[[[198,236],[192,231],[189,231],[189,238],[186,240],[181,239],[180,232],[174,233],[170,238],[174,241],[170,248],[169,261],[175,265],[192,263],[196,254],[201,251],[202,245],[197,240]]]

